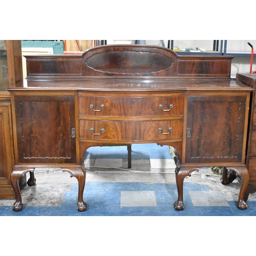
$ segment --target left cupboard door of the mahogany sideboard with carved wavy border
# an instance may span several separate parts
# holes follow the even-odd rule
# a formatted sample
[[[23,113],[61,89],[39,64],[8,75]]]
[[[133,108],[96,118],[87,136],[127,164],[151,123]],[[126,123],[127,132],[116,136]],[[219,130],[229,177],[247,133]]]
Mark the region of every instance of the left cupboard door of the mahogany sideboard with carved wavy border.
[[[75,96],[15,95],[19,163],[75,163]]]

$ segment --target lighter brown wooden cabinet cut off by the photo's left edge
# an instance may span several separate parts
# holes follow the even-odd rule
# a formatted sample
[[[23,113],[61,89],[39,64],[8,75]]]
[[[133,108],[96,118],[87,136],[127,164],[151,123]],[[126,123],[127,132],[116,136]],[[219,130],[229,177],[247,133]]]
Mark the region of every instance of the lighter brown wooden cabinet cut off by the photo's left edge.
[[[22,50],[20,40],[0,40],[0,199],[14,199],[11,172],[14,166],[11,97],[8,87],[22,87]],[[26,176],[19,178],[19,187]]]

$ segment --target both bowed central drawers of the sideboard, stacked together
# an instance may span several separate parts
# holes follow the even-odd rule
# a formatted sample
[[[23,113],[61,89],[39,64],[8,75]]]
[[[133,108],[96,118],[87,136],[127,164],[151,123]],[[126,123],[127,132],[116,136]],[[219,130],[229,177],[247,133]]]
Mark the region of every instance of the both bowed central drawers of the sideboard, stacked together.
[[[117,94],[116,94],[117,95]],[[182,139],[182,93],[93,96],[79,94],[80,138],[151,141]]]

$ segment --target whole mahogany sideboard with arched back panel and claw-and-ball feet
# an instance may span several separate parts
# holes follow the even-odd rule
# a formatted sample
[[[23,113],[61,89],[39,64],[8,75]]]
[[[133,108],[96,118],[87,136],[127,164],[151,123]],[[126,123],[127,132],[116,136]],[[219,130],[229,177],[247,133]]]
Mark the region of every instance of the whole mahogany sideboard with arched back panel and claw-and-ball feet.
[[[246,142],[253,88],[230,78],[232,57],[179,56],[145,45],[25,57],[27,87],[8,89],[13,210],[23,207],[17,180],[29,172],[33,185],[36,167],[61,168],[76,177],[77,209],[86,210],[86,150],[132,143],[170,147],[177,165],[175,209],[184,209],[184,178],[202,166],[224,166],[240,176],[237,205],[247,208]]]

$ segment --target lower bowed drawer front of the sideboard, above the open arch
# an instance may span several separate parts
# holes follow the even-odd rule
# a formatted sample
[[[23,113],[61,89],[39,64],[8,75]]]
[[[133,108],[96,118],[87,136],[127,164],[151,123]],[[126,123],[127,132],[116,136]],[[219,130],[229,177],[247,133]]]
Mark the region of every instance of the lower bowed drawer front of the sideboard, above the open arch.
[[[80,120],[80,138],[96,140],[165,140],[182,138],[183,120]]]

